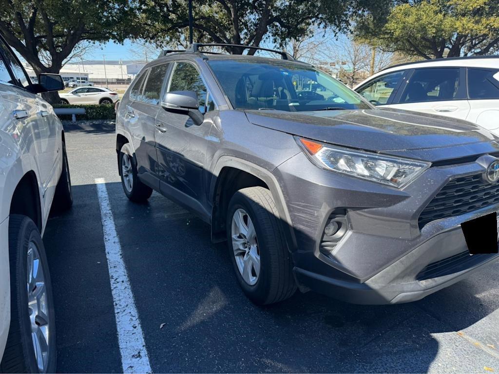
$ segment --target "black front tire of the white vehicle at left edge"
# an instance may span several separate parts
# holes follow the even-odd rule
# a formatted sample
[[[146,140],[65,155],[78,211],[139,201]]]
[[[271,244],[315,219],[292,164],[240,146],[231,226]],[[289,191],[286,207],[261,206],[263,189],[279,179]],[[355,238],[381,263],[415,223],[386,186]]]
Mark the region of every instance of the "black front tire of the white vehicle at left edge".
[[[8,331],[7,344],[0,363],[1,373],[54,373],[56,363],[55,345],[55,318],[52,298],[52,287],[48,273],[45,249],[38,228],[34,222],[26,216],[12,214],[8,226],[9,266],[10,266],[10,328]],[[28,283],[28,251],[38,257],[37,282],[34,290],[44,290],[46,303],[31,302],[28,307],[28,287],[31,289],[33,283]],[[33,249],[34,248],[34,249]],[[30,267],[33,269],[33,267]],[[40,280],[44,280],[43,286]],[[30,297],[34,293],[29,292]],[[39,296],[39,295],[38,295]],[[36,307],[33,305],[36,304]],[[45,309],[45,313],[40,313]],[[33,316],[34,317],[30,317]],[[31,321],[37,323],[32,323]],[[47,329],[48,343],[47,357],[41,360],[43,370],[36,361],[33,331],[41,334],[43,326]],[[34,330],[33,330],[34,329]],[[42,338],[46,341],[46,338]],[[41,339],[39,338],[39,342]]]

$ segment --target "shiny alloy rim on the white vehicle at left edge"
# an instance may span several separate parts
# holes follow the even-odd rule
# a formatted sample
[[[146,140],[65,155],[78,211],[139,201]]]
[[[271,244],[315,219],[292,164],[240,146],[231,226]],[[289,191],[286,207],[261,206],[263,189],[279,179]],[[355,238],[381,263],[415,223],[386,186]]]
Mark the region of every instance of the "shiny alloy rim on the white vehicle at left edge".
[[[40,255],[36,244],[32,241],[28,243],[26,274],[31,339],[38,371],[45,373],[48,366],[49,342],[52,334],[49,324],[50,311]]]

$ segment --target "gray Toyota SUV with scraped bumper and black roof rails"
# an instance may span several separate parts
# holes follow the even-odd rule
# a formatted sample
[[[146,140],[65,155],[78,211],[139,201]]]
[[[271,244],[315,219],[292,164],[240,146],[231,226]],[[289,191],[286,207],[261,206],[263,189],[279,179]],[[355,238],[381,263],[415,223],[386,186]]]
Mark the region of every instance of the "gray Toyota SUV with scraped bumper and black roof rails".
[[[134,79],[117,110],[118,170],[131,200],[156,190],[210,223],[254,303],[296,288],[409,302],[498,260],[471,256],[460,227],[499,210],[497,137],[377,109],[285,52],[204,46]]]

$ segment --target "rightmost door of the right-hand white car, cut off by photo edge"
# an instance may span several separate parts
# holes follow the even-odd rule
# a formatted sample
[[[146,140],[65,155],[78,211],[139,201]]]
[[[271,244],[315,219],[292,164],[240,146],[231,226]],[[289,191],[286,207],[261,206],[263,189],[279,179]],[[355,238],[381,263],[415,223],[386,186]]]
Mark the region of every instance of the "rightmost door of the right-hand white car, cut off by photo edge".
[[[499,134],[499,69],[468,68],[468,121]]]

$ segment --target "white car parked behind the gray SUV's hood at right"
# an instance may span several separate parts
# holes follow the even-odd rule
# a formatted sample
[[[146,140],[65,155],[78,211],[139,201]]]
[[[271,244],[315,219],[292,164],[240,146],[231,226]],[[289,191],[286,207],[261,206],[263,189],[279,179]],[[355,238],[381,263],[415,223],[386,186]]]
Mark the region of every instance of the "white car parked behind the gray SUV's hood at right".
[[[382,108],[467,120],[499,135],[499,56],[397,65],[366,79],[355,91]]]

